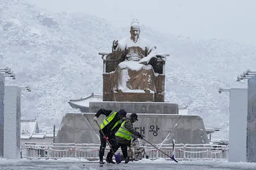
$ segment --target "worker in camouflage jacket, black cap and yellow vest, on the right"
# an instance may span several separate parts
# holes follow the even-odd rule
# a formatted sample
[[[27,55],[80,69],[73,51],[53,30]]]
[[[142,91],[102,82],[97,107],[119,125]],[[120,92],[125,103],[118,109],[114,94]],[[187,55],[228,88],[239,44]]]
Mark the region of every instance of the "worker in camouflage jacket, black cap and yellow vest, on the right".
[[[132,139],[132,134],[135,136],[138,136],[139,138],[144,138],[145,136],[140,134],[140,132],[136,131],[136,129],[133,127],[133,123],[138,121],[138,115],[136,113],[132,113],[130,117],[122,119],[122,124],[120,128],[117,130],[115,133],[116,136],[116,142],[117,144],[114,145],[112,148],[114,152],[117,151],[119,147],[122,149],[122,153],[124,156],[124,163],[129,162],[129,157],[127,154],[127,146],[131,146],[131,139]],[[113,152],[109,152],[107,157],[109,159],[112,159],[113,157]]]

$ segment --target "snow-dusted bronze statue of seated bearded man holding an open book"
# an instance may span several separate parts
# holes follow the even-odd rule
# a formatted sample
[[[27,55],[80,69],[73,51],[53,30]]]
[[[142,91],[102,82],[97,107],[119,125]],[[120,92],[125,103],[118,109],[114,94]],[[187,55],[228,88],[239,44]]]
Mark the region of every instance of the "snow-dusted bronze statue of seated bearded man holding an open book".
[[[114,40],[112,43],[111,58],[120,62],[115,71],[109,73],[111,90],[113,93],[154,95],[157,93],[155,79],[159,74],[155,73],[153,66],[157,64],[157,60],[165,61],[169,54],[158,54],[156,47],[140,36],[140,23],[137,19],[131,23],[130,34],[128,38]],[[162,84],[164,86],[164,82]]]

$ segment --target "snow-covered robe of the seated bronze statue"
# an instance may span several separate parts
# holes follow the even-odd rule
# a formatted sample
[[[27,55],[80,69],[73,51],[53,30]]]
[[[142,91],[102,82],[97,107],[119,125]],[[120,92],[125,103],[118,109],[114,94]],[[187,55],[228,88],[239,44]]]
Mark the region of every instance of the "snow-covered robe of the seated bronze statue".
[[[112,90],[130,93],[145,93],[144,90],[149,90],[150,93],[156,93],[153,67],[139,63],[142,58],[153,53],[156,53],[154,47],[140,37],[136,43],[130,38],[120,40],[118,46],[112,48],[112,56],[122,61],[110,73]]]

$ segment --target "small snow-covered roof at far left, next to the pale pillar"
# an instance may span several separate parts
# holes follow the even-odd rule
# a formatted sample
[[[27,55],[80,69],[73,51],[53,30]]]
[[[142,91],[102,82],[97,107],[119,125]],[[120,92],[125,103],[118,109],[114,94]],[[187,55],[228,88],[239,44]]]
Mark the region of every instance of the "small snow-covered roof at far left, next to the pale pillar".
[[[39,133],[39,128],[37,124],[37,119],[21,119],[21,133],[33,134]]]

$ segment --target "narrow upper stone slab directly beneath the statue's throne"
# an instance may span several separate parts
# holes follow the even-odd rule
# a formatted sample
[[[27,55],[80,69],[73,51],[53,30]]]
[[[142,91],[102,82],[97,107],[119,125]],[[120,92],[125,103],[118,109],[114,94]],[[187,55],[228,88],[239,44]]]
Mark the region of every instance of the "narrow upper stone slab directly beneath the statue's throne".
[[[127,113],[178,114],[178,104],[167,102],[89,102],[89,112],[96,113],[99,109],[124,109]]]

